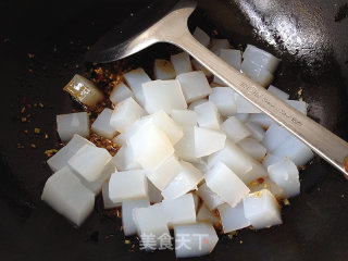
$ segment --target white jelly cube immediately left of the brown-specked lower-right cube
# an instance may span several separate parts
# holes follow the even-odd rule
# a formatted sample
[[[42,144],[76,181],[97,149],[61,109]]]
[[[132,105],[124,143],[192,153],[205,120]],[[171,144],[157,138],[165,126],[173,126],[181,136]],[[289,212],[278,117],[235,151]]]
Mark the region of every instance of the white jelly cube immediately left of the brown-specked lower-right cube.
[[[224,233],[238,231],[250,225],[250,222],[244,214],[244,204],[240,201],[237,206],[231,207],[227,203],[223,203],[217,207],[219,215],[224,228]]]

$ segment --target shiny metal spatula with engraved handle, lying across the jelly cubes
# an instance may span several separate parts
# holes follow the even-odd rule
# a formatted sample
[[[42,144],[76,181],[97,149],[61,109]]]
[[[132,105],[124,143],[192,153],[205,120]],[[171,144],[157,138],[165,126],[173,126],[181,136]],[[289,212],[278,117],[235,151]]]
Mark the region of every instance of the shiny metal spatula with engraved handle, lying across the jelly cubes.
[[[110,32],[87,54],[94,62],[111,62],[128,57],[156,42],[173,44],[220,77],[226,85],[291,132],[328,163],[348,177],[348,144],[316,122],[293,109],[240,72],[233,69],[189,33],[187,20],[196,8],[192,0],[179,1],[171,11],[141,33],[107,48],[120,32]],[[111,42],[112,44],[112,42]]]

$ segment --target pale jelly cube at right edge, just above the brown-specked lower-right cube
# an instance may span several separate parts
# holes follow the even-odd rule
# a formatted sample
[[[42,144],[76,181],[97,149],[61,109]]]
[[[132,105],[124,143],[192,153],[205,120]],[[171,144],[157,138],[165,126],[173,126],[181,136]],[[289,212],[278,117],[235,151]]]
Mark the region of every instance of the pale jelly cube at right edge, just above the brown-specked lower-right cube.
[[[300,194],[300,181],[297,166],[285,158],[268,167],[270,178],[283,189],[283,198]]]

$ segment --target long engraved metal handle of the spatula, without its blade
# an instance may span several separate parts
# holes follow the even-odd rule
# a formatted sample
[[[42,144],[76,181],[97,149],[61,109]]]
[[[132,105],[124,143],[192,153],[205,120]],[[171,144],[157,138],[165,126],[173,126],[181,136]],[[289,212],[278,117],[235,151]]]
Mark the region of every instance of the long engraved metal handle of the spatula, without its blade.
[[[172,44],[181,47],[227,86],[307,144],[316,154],[348,177],[348,144],[322,125],[301,114],[261,85],[241,74],[199,44],[185,29]]]

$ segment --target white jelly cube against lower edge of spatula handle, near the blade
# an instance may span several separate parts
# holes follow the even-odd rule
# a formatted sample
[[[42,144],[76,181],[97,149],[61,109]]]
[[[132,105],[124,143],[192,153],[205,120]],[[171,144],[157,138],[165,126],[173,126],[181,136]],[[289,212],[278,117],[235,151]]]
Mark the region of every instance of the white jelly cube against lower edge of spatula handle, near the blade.
[[[176,79],[181,83],[187,103],[204,98],[211,94],[210,85],[203,72],[195,71],[176,75]]]

